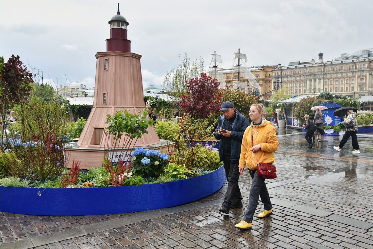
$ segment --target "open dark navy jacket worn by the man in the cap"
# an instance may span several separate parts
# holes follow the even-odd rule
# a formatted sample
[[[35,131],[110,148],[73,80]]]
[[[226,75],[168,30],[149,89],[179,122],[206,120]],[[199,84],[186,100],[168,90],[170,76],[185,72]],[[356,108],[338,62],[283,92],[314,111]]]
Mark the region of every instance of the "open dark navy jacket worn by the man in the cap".
[[[237,109],[235,109],[236,118],[233,121],[232,125],[232,133],[231,133],[231,160],[239,160],[239,155],[241,154],[241,144],[242,144],[242,137],[244,137],[244,132],[246,128],[250,125],[249,120],[242,114],[238,112]],[[219,121],[219,124],[217,124],[217,127],[215,129],[215,138],[216,140],[222,139],[223,135],[217,134],[217,129],[220,127],[223,127],[224,121],[226,118],[224,115],[217,118]],[[219,144],[219,157],[220,161],[223,161],[223,146],[222,142],[220,141]]]

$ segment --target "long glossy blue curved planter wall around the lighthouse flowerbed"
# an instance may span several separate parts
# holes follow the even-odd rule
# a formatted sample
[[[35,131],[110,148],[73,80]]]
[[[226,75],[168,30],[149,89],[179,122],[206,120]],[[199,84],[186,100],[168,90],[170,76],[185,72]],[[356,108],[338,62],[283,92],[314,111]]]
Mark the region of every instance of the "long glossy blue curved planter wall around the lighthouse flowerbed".
[[[224,167],[198,177],[140,186],[37,189],[0,186],[0,211],[31,215],[97,215],[182,205],[225,183]],[[41,192],[41,196],[38,195]]]

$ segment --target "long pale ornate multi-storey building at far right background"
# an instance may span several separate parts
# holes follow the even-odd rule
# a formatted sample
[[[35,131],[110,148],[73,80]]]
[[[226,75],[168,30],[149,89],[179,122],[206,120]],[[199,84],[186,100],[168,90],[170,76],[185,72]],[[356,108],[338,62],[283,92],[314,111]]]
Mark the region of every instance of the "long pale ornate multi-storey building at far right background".
[[[272,87],[282,83],[285,94],[307,95],[329,91],[349,97],[373,95],[373,49],[342,54],[332,61],[290,62],[272,70]]]

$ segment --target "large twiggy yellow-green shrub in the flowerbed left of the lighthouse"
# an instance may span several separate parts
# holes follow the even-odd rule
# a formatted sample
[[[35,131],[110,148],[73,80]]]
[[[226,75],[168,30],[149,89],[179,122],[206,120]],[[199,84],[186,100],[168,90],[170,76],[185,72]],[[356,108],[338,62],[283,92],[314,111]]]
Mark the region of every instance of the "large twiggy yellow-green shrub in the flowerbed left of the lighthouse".
[[[23,114],[18,118],[21,140],[8,139],[6,149],[12,153],[4,156],[8,160],[10,175],[32,181],[54,180],[58,177],[68,160],[63,151],[66,143],[68,115],[65,108],[56,101],[45,102],[33,97],[29,104],[23,105]],[[9,137],[17,137],[18,132],[9,130]]]

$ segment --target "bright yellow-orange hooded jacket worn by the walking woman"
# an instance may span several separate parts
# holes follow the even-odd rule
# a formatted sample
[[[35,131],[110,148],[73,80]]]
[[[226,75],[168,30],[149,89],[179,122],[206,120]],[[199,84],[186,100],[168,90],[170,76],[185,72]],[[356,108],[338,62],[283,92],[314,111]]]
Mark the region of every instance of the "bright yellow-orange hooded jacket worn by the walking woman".
[[[255,156],[251,151],[251,130],[253,130],[254,145],[260,144],[261,149],[255,152]],[[277,150],[279,143],[277,141],[276,129],[272,122],[262,119],[260,125],[251,125],[246,128],[244,137],[242,138],[241,155],[239,157],[239,168],[245,168],[245,164],[249,169],[257,169],[257,162],[273,164],[275,155],[273,152]],[[255,159],[256,158],[256,159]]]

